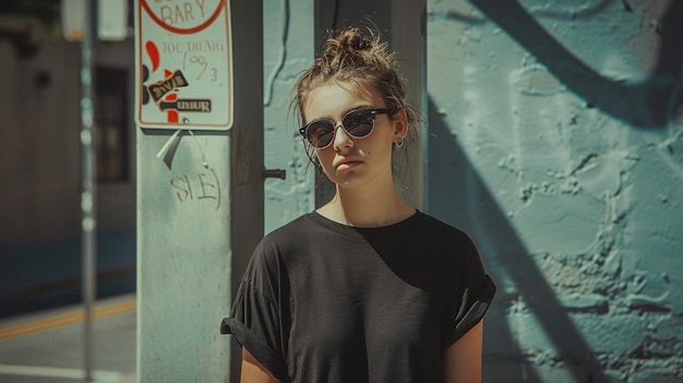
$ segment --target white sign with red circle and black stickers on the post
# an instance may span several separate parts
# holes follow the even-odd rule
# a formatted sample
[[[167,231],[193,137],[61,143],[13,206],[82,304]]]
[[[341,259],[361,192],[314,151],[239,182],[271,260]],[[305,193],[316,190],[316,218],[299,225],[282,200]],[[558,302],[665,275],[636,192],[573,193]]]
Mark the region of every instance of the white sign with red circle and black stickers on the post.
[[[139,0],[136,121],[149,129],[228,130],[228,0]]]

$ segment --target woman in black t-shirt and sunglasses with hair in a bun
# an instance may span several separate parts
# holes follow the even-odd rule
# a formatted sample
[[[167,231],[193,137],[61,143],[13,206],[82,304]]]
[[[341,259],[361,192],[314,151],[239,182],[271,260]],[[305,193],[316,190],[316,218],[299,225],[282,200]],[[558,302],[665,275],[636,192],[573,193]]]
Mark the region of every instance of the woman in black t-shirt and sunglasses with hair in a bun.
[[[242,382],[481,380],[495,286],[467,235],[394,187],[416,130],[395,67],[376,34],[349,28],[299,77],[300,133],[336,192],[253,254],[223,322]]]

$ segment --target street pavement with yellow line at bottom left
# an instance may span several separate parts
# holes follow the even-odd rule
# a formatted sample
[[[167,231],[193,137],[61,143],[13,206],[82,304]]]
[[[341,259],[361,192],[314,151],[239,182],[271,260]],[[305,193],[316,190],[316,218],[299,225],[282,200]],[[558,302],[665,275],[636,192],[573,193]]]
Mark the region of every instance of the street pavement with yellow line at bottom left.
[[[0,382],[88,382],[84,319],[82,306],[1,319]],[[134,294],[95,303],[89,382],[135,382],[135,321]]]

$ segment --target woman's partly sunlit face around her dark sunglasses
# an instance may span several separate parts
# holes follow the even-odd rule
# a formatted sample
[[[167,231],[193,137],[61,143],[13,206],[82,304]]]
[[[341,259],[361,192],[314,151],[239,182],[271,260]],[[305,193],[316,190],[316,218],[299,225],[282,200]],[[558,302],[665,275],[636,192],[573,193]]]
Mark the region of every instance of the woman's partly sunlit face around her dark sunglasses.
[[[350,110],[385,107],[379,95],[359,96],[337,84],[317,87],[309,94],[303,107],[304,121],[308,123],[319,118],[335,121],[336,133],[332,143],[315,149],[315,155],[327,178],[338,187],[385,184],[393,188],[392,145],[405,136],[407,123],[402,119],[392,120],[385,113],[378,115],[374,129],[363,139],[355,139],[340,128],[342,118]]]

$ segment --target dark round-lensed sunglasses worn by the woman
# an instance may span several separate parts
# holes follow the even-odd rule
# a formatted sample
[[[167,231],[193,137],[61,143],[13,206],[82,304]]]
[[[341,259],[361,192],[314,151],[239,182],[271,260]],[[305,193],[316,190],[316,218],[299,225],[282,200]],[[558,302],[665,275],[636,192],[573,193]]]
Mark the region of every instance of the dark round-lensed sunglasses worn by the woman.
[[[388,109],[351,110],[342,118],[342,128],[344,128],[346,134],[354,139],[364,139],[372,133],[374,118],[378,115],[388,112]],[[319,118],[299,129],[299,133],[303,135],[313,147],[322,149],[332,144],[336,133],[335,128],[335,121],[328,118]]]

